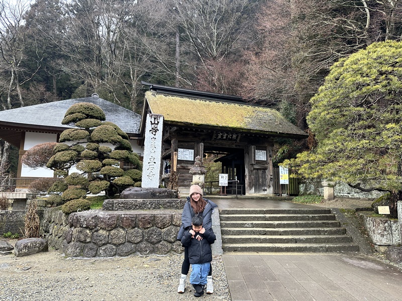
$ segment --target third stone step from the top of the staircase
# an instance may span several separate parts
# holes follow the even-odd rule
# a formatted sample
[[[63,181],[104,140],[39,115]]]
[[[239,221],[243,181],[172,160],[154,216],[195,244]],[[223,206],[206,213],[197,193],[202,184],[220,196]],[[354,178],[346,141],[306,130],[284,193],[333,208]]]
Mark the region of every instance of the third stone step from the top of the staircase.
[[[338,221],[221,221],[222,228],[328,228]]]

